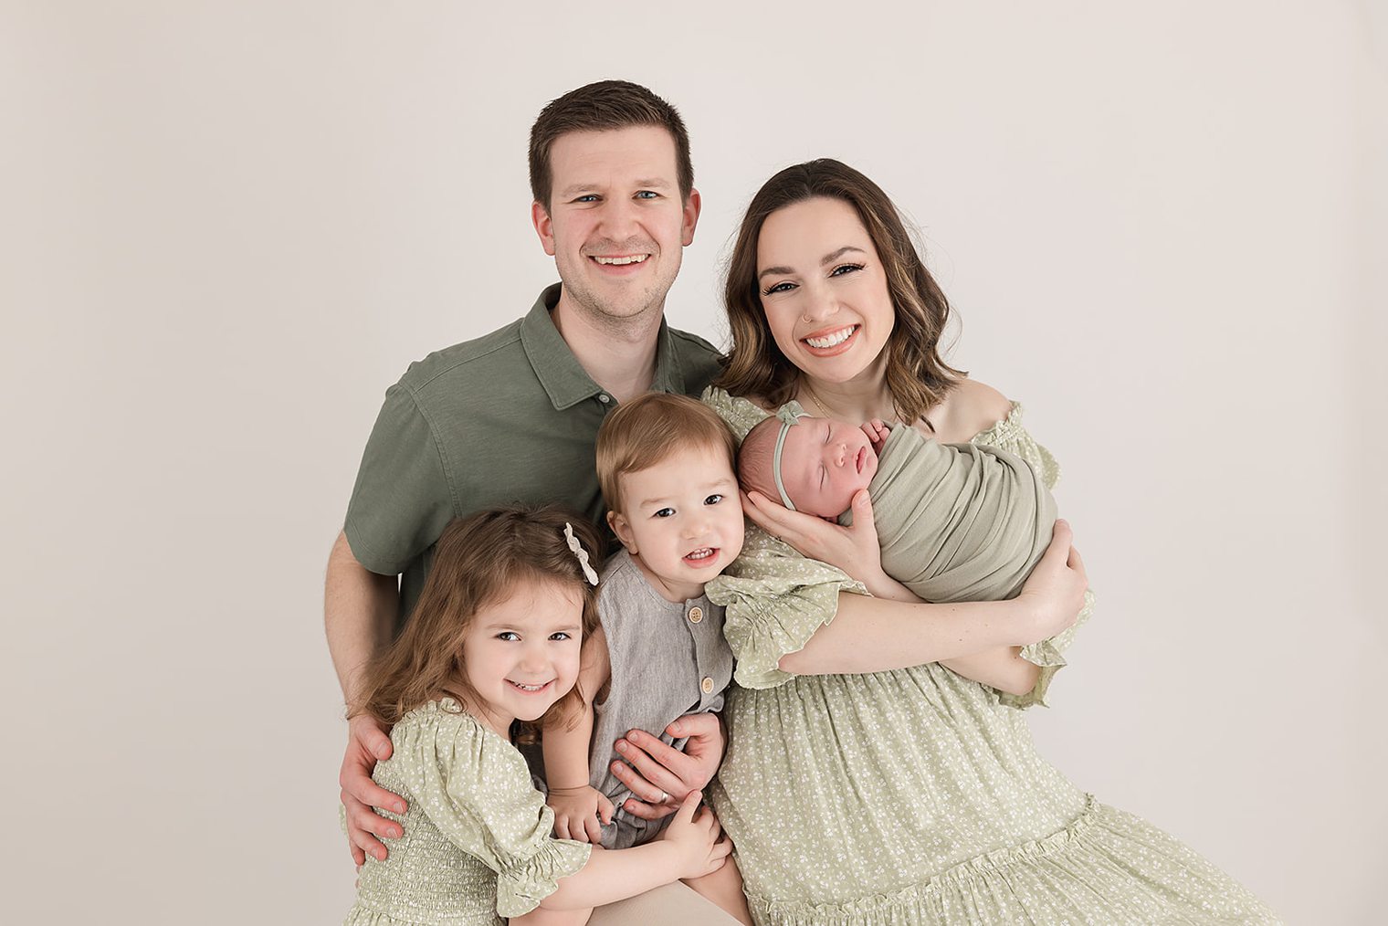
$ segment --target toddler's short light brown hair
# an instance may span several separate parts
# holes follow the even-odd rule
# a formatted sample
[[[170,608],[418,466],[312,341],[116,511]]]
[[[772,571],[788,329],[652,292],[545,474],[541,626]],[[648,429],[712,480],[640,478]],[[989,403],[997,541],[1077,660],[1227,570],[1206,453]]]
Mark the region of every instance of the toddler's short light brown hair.
[[[731,469],[737,439],[716,411],[688,396],[645,393],[618,405],[598,429],[598,485],[608,510],[622,512],[622,476],[677,450],[723,453]]]

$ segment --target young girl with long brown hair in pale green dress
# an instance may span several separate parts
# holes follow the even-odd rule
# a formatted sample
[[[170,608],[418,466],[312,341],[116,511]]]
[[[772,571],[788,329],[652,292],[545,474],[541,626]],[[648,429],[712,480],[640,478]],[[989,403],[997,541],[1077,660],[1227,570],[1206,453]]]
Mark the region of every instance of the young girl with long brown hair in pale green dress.
[[[551,836],[554,814],[511,743],[577,701],[597,626],[598,534],[555,507],[484,511],[448,526],[404,630],[366,668],[354,712],[391,725],[375,779],[404,795],[404,837],[368,858],[348,926],[580,925],[591,908],[720,868],[730,845],[691,793],[665,840],[601,851]]]

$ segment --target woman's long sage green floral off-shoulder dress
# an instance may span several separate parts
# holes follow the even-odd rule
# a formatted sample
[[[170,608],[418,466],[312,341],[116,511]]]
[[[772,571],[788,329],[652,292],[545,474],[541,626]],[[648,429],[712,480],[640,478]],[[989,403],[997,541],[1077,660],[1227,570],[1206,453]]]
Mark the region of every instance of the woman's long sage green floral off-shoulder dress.
[[[738,440],[766,416],[709,389]],[[1053,485],[1022,408],[977,435]],[[1042,702],[1073,629],[1027,647],[1012,698],[938,665],[794,676],[779,659],[834,618],[847,575],[748,525],[706,587],[737,655],[729,748],[709,789],[761,926],[1276,923],[1241,884],[1141,818],[1095,801],[1037,755]],[[1088,612],[1088,604],[1085,607]]]

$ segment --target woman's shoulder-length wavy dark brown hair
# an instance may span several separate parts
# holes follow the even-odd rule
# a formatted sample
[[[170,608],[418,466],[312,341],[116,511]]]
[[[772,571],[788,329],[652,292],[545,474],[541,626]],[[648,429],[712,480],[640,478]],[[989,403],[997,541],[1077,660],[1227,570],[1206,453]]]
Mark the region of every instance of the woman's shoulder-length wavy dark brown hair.
[[[965,373],[940,357],[940,336],[949,322],[949,301],[926,269],[906,224],[880,186],[831,158],[788,167],[762,185],[737,232],[727,267],[723,301],[733,346],[715,380],[734,396],[755,396],[780,405],[795,396],[801,371],[776,347],[756,280],[756,242],[766,218],[794,203],[816,197],[854,207],[887,276],[897,310],[887,339],[887,389],[901,421],[924,418]],[[929,423],[929,422],[927,422]]]

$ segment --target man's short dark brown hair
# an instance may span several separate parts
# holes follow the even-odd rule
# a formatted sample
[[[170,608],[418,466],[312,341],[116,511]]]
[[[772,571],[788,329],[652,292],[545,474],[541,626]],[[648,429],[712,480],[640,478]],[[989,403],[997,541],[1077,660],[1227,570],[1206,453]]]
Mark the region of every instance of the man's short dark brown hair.
[[[684,119],[673,106],[640,83],[598,81],[551,100],[530,126],[530,193],[534,194],[534,201],[545,211],[550,210],[550,194],[554,192],[550,149],[559,136],[569,132],[626,129],[633,125],[655,125],[675,139],[680,200],[687,200],[694,189],[694,164],[690,161],[690,136],[684,129]]]

